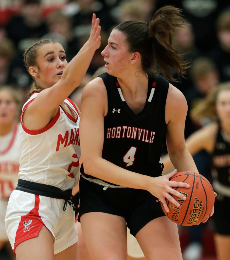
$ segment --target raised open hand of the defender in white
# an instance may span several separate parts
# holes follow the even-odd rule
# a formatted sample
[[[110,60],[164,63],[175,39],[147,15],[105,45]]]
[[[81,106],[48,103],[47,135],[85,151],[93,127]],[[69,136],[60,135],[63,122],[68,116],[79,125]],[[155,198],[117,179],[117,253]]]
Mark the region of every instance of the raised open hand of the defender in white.
[[[95,50],[98,49],[101,45],[101,36],[100,36],[101,27],[99,23],[100,23],[100,19],[96,18],[96,15],[93,14],[92,27],[91,27],[90,36],[87,43],[89,47],[95,48]]]

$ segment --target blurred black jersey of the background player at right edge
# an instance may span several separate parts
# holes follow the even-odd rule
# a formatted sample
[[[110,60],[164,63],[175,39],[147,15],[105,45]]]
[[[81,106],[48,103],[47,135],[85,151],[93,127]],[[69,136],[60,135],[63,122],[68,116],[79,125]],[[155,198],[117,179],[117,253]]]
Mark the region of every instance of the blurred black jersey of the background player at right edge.
[[[212,159],[213,166],[217,171],[217,180],[221,184],[230,187],[230,144],[225,140],[220,127],[216,135]]]

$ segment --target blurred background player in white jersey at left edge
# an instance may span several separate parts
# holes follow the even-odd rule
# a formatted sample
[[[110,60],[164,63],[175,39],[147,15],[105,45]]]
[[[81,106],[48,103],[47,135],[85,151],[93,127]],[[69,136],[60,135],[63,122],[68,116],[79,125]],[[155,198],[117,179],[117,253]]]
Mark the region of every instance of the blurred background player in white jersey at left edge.
[[[8,241],[5,213],[17,186],[20,158],[19,124],[15,121],[20,95],[11,87],[0,88],[0,250]]]

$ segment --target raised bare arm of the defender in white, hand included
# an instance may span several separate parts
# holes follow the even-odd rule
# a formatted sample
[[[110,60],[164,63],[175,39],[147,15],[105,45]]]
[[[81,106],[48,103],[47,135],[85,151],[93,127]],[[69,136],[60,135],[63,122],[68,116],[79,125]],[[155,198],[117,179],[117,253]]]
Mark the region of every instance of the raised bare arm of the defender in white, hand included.
[[[93,14],[89,39],[67,64],[61,79],[52,87],[42,90],[26,108],[23,117],[25,118],[26,115],[28,122],[33,121],[33,118],[36,117],[36,120],[43,120],[44,125],[49,123],[52,116],[57,113],[58,106],[80,85],[95,50],[100,47],[101,27],[99,22],[99,18]]]

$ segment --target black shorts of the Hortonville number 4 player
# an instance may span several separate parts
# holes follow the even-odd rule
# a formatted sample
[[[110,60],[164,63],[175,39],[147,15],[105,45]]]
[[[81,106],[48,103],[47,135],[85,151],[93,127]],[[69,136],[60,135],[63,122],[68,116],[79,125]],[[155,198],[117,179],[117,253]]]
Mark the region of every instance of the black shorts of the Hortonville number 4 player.
[[[88,212],[104,212],[123,217],[130,233],[136,236],[151,220],[165,216],[157,198],[146,190],[108,188],[83,177],[79,182],[79,216]]]

